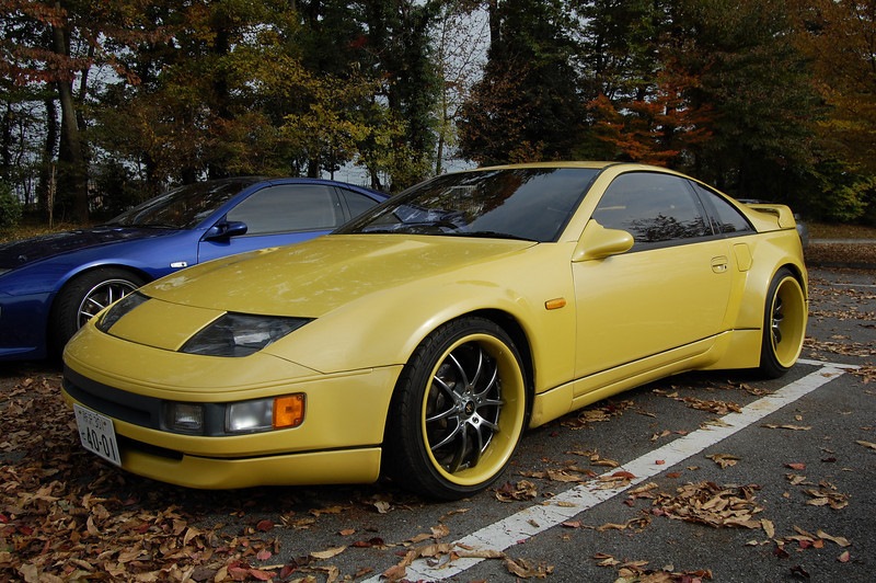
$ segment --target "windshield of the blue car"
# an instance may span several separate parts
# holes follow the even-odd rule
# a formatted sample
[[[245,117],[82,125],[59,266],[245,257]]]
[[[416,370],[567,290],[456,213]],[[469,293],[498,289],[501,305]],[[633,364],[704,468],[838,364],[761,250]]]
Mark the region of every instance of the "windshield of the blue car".
[[[261,179],[229,179],[186,184],[126,210],[107,225],[192,229],[244,187]]]

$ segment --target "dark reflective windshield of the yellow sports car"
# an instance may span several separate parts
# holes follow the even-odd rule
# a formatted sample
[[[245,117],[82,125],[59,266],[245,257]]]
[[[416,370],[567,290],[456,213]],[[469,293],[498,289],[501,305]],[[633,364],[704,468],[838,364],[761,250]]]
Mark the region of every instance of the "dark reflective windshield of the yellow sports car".
[[[443,174],[335,232],[556,241],[598,173],[590,168],[515,168]]]

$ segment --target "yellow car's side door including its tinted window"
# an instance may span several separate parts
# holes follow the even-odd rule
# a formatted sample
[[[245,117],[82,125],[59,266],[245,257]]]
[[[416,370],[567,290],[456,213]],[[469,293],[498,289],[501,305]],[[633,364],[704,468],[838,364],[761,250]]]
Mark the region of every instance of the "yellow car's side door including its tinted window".
[[[625,253],[573,263],[577,377],[624,365],[635,374],[707,348],[722,327],[733,273],[729,244],[715,235],[690,183],[656,172],[621,174],[587,229],[600,225],[630,232],[635,243]]]

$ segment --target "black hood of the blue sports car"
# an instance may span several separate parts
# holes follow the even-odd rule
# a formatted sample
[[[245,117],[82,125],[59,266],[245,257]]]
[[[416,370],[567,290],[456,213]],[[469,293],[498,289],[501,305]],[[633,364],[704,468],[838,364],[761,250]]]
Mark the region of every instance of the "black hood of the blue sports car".
[[[176,232],[173,229],[139,227],[95,227],[56,232],[0,244],[0,268],[14,270],[44,259],[134,239],[148,239]]]

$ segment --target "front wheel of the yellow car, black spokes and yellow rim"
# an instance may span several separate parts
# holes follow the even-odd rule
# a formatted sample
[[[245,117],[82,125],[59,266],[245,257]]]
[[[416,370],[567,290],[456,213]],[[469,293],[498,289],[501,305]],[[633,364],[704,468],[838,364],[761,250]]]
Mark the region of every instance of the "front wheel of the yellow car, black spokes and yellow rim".
[[[463,318],[434,331],[402,370],[388,420],[388,473],[430,498],[493,483],[523,433],[527,381],[508,334]]]

